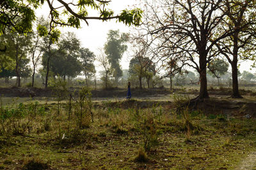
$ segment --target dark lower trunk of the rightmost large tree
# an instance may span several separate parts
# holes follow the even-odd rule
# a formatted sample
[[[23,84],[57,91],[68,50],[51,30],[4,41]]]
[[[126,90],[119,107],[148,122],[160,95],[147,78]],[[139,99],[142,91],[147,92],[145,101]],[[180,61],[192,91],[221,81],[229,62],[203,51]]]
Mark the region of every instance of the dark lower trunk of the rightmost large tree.
[[[243,98],[239,93],[238,78],[237,78],[237,61],[233,60],[232,64],[232,98]]]

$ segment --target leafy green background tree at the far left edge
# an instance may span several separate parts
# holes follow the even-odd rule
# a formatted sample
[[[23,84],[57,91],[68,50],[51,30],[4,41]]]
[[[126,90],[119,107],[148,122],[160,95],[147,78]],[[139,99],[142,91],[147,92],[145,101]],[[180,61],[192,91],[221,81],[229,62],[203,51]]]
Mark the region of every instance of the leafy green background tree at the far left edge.
[[[24,36],[19,35],[18,33],[6,33],[5,35],[2,35],[1,38],[3,38],[2,40],[7,46],[4,56],[9,56],[10,61],[13,62],[11,65],[15,66],[15,73],[17,77],[16,86],[20,87],[21,69],[29,62],[26,58],[31,47],[31,34]]]

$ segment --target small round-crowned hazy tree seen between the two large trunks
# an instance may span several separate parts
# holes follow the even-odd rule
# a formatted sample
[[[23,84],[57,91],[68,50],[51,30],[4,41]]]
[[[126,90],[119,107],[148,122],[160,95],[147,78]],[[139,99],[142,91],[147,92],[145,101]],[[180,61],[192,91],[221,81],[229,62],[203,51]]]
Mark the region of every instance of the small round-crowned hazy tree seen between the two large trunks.
[[[208,73],[212,75],[212,77],[216,77],[218,79],[218,86],[220,86],[220,75],[227,73],[228,63],[223,59],[216,58],[210,61],[208,68]]]

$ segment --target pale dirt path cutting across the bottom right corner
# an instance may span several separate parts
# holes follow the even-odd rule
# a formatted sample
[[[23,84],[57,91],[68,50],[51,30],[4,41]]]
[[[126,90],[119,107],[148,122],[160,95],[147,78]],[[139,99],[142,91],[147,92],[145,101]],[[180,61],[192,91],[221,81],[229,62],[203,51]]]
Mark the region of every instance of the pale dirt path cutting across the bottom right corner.
[[[236,169],[256,169],[256,151],[252,151]]]

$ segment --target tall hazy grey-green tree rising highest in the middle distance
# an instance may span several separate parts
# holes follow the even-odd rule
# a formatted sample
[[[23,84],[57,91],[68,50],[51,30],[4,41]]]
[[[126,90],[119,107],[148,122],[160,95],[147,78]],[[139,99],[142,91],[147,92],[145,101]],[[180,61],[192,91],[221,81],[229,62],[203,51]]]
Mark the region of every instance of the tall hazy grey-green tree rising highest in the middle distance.
[[[120,34],[119,30],[109,30],[108,42],[104,45],[104,50],[113,70],[113,77],[115,78],[116,85],[118,84],[118,79],[122,77],[123,74],[120,66],[120,60],[122,59],[125,50],[127,50],[127,45],[125,45],[127,40],[127,34]]]

